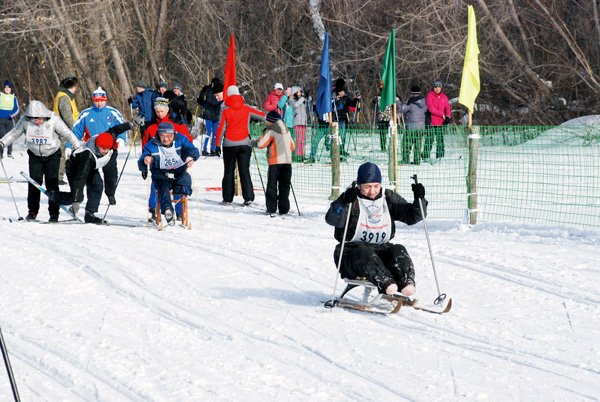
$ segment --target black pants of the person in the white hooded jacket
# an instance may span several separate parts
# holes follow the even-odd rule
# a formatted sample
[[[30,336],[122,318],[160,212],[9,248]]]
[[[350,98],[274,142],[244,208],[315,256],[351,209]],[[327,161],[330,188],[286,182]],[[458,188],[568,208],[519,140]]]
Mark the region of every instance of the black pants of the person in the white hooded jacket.
[[[60,149],[50,156],[37,156],[31,151],[29,155],[29,176],[40,185],[46,184],[46,190],[58,191],[58,168],[60,166]],[[27,208],[30,213],[37,213],[40,210],[40,190],[29,183],[27,191]],[[48,212],[50,216],[58,216],[58,204],[48,200]]]

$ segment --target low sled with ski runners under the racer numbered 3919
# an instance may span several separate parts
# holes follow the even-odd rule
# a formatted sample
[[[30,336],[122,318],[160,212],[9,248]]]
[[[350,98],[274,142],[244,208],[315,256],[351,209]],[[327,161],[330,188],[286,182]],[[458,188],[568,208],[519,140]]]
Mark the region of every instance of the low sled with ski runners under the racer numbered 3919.
[[[342,295],[335,299],[333,305],[331,300],[325,302],[325,307],[342,307],[383,315],[396,314],[404,305],[433,314],[444,314],[452,308],[452,299],[448,299],[445,307],[425,307],[419,305],[417,298],[414,296],[405,296],[401,293],[394,293],[392,295],[380,294],[377,292],[377,286],[366,279],[346,278],[344,279],[344,282],[346,283],[346,288],[342,292]],[[344,296],[346,296],[348,292],[357,287],[363,288],[363,295],[360,301],[344,299]],[[376,292],[375,296],[371,296],[373,290]],[[388,301],[389,303],[382,303],[382,301]]]

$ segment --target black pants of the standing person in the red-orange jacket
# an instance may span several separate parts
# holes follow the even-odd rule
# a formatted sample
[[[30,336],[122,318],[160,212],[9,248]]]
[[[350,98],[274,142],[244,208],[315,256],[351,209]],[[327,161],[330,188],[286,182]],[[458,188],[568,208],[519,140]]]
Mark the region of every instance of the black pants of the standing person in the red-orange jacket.
[[[252,177],[250,177],[250,156],[252,156],[252,148],[248,145],[223,147],[223,201],[233,201],[236,163],[242,183],[244,201],[254,201],[254,188]]]

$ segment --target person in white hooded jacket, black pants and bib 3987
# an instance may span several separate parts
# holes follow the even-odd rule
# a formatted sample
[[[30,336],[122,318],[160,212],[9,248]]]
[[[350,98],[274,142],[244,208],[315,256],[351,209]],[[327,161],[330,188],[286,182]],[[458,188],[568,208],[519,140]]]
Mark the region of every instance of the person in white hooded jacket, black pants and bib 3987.
[[[58,191],[61,139],[67,140],[75,149],[81,146],[79,140],[56,113],[36,100],[29,102],[15,128],[0,140],[0,155],[5,147],[23,134],[25,134],[29,155],[29,176],[38,183],[44,181],[48,191]],[[27,207],[29,213],[25,219],[34,221],[40,210],[40,190],[33,184],[29,184]],[[58,222],[59,208],[54,202],[48,202],[50,222]]]

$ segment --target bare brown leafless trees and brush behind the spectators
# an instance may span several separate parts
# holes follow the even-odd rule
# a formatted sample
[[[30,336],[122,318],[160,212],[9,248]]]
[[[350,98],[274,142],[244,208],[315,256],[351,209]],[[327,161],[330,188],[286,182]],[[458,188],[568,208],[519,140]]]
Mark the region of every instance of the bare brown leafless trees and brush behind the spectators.
[[[82,80],[80,109],[102,85],[125,111],[135,83],[181,82],[190,106],[223,78],[235,35],[238,85],[262,102],[275,82],[316,92],[322,32],[332,79],[371,99],[391,29],[398,94],[440,78],[458,97],[467,5],[477,15],[480,124],[557,124],[599,113],[600,27],[596,0],[2,0],[1,79],[21,104],[50,104],[59,81]],[[455,120],[460,106],[455,106]],[[364,108],[369,118],[368,108]],[[128,113],[124,113],[128,115]]]

